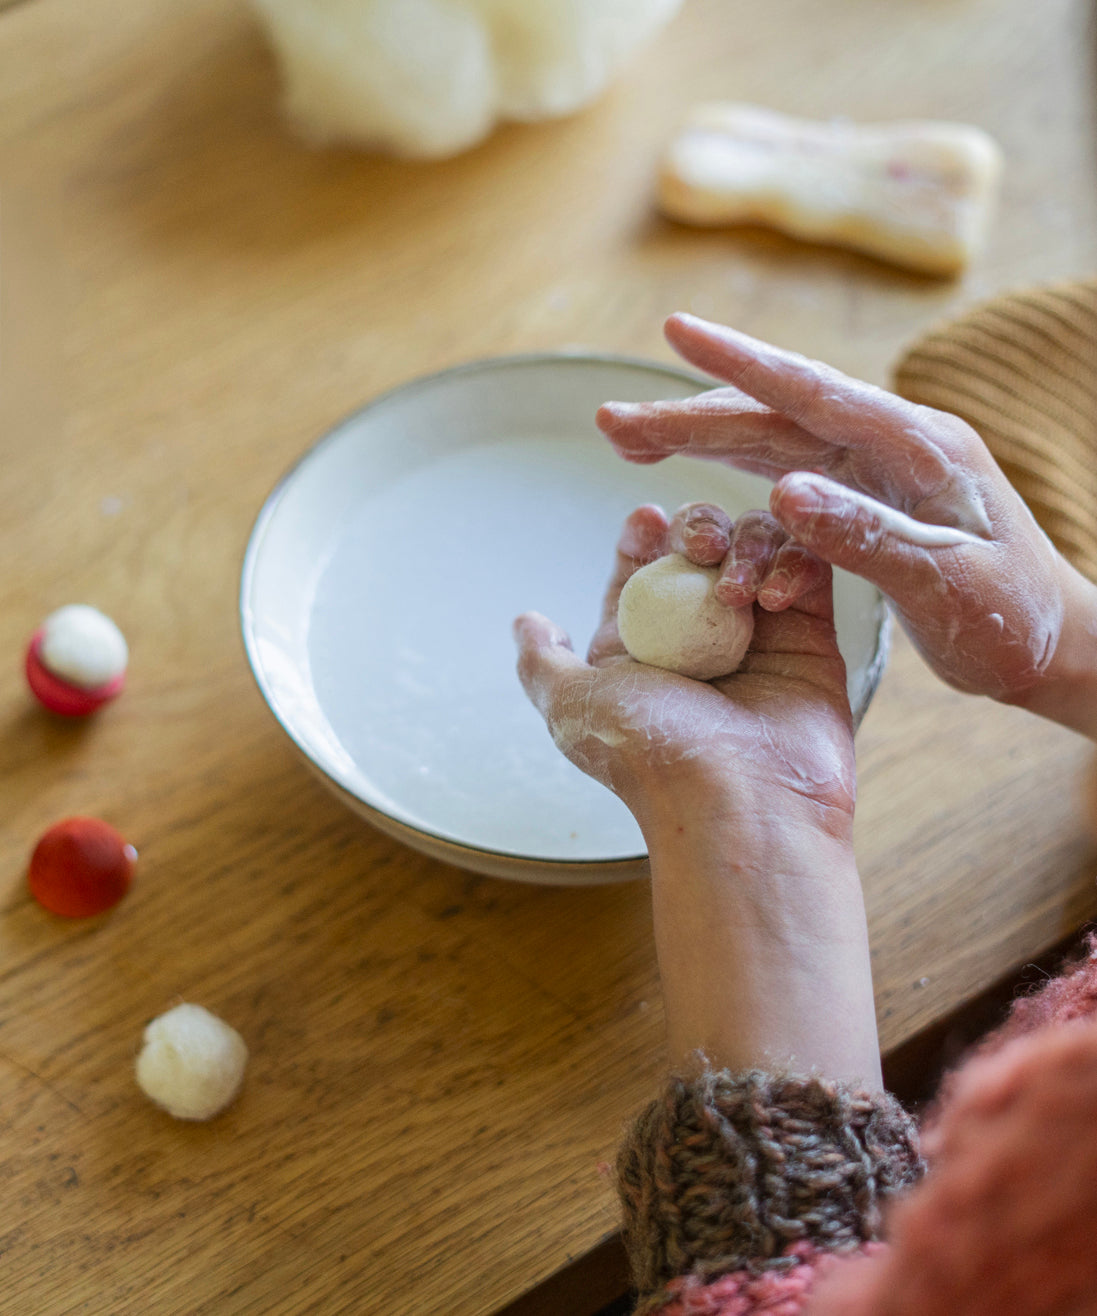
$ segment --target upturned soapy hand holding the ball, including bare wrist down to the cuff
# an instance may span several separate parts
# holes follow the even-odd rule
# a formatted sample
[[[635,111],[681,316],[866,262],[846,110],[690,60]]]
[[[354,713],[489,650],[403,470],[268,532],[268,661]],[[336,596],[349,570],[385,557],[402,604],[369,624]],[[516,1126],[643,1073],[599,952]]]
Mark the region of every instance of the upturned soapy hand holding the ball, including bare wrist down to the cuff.
[[[741,519],[731,544],[737,532],[748,544],[755,578],[735,601],[759,604],[751,647],[730,676],[689,680],[634,662],[617,633],[625,582],[680,526],[654,507],[625,522],[587,661],[546,617],[520,617],[522,684],[563,753],[643,830],[675,1061],[701,1050],[717,1067],[818,1069],[876,1087],[830,567],[788,551],[768,513]]]

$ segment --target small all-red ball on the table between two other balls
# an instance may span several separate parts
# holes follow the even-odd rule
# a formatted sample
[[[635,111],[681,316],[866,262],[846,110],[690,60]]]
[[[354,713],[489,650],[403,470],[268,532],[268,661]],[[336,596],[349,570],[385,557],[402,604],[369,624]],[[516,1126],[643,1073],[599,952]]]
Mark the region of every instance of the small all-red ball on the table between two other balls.
[[[137,850],[99,819],[64,819],[43,832],[26,880],[50,913],[87,919],[116,905],[129,891]]]

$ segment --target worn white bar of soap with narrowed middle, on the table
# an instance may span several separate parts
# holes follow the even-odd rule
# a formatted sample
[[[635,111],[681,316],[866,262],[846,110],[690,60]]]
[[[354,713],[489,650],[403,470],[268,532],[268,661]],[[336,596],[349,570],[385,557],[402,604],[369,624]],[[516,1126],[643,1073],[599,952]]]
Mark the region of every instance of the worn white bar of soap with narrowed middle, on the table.
[[[671,141],[659,205],[685,224],[762,224],[952,275],[984,242],[1001,168],[997,142],[971,124],[859,125],[713,103]]]

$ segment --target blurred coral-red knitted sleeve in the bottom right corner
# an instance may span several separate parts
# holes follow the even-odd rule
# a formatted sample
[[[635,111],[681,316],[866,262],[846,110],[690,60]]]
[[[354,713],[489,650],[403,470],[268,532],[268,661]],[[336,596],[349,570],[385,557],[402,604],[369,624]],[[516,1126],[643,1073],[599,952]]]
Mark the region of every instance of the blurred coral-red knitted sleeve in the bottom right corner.
[[[980,1055],[879,1258],[838,1262],[810,1316],[1097,1316],[1097,1025]]]

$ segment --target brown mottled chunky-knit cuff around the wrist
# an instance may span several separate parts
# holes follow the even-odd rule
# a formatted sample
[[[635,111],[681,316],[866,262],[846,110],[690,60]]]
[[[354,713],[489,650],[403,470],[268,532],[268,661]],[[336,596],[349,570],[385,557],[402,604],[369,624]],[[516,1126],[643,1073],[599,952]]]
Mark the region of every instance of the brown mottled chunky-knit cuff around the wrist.
[[[921,1171],[914,1121],[887,1094],[760,1071],[675,1076],[617,1158],[635,1286],[792,1266],[800,1241],[854,1249]]]

